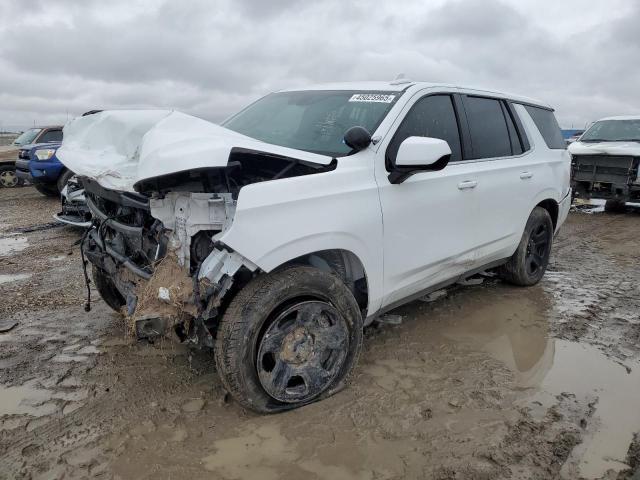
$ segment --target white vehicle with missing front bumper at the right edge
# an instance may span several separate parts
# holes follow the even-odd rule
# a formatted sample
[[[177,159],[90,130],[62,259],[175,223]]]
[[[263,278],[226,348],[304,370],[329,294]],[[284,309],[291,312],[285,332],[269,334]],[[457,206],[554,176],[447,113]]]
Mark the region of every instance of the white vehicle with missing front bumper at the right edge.
[[[640,201],[640,115],[598,120],[568,149],[576,198],[605,199],[607,211]]]

